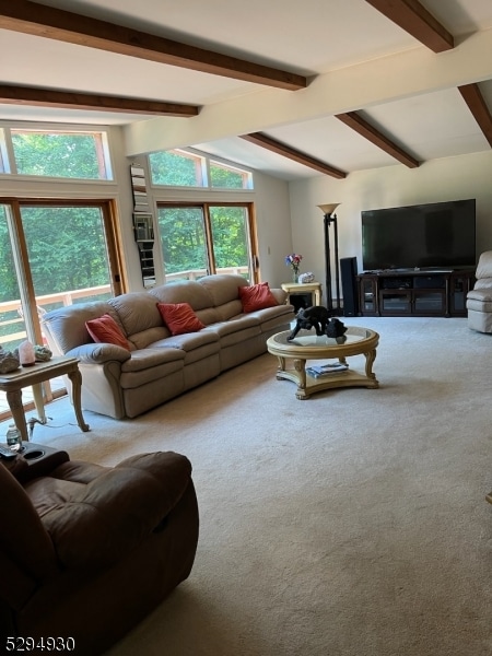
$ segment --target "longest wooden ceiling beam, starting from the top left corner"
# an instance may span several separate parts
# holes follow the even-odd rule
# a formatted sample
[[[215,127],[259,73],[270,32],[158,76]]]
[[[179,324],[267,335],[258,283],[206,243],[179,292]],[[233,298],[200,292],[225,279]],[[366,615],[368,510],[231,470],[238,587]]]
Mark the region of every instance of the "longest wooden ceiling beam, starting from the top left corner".
[[[31,0],[0,0],[0,28],[277,89],[296,91],[307,86],[302,75]]]

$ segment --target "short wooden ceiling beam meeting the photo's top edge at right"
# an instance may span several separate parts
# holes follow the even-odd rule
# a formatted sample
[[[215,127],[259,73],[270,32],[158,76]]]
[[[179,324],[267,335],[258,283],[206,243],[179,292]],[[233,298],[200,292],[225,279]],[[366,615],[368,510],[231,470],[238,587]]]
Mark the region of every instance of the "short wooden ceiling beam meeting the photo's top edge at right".
[[[434,52],[453,50],[453,35],[418,0],[365,0]]]

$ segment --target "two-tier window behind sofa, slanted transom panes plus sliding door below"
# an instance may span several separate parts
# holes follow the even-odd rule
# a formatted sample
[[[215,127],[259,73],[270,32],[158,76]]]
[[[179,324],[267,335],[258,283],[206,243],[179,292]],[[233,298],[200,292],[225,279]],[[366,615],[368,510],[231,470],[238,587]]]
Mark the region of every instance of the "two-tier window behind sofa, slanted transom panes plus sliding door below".
[[[166,282],[211,273],[239,273],[257,282],[256,229],[249,201],[253,174],[179,149],[151,153],[149,166]],[[178,200],[164,201],[169,195]],[[213,202],[209,201],[212,197]]]

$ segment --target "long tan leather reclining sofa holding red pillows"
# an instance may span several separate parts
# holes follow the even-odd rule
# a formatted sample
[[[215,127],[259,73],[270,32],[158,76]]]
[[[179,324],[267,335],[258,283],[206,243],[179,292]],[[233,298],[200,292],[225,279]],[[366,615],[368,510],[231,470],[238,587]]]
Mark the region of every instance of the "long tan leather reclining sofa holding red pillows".
[[[44,316],[43,327],[55,355],[80,360],[82,407],[133,418],[265,353],[267,339],[289,329],[294,308],[285,292],[272,289],[278,305],[245,314],[238,292],[245,285],[235,274],[171,282],[55,309]],[[188,303],[206,327],[173,336],[157,303]],[[92,340],[85,323],[105,314],[120,327],[130,351]]]

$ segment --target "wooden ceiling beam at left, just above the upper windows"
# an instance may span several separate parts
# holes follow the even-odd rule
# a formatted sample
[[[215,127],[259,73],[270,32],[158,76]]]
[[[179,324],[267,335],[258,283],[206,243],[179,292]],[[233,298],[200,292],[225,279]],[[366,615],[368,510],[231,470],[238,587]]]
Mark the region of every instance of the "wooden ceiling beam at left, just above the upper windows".
[[[7,84],[0,84],[0,104],[62,109],[93,109],[94,112],[122,112],[126,114],[150,114],[183,118],[197,116],[200,110],[196,105],[179,105],[176,103],[161,103],[160,101],[71,93]]]

